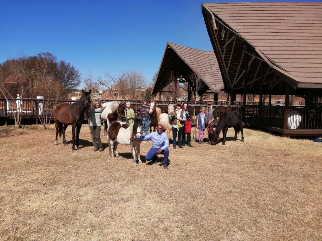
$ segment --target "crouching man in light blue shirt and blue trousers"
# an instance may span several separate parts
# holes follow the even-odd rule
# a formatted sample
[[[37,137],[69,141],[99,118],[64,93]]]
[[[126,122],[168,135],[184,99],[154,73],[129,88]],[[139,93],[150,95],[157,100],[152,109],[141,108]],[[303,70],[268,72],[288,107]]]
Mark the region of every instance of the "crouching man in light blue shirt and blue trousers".
[[[152,148],[148,151],[145,159],[147,161],[154,161],[156,163],[156,159],[158,158],[157,154],[163,154],[164,159],[162,162],[163,168],[168,168],[168,157],[169,157],[169,140],[168,136],[165,132],[163,132],[163,126],[157,125],[156,131],[150,133],[147,136],[143,136],[140,138],[130,138],[131,141],[147,141],[152,140]]]

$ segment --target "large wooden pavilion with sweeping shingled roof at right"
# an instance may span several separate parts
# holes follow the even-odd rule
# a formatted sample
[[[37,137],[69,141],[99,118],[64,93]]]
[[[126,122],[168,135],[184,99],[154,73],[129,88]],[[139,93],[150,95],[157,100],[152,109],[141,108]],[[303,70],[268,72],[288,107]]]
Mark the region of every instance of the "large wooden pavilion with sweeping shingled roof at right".
[[[322,3],[207,3],[202,13],[231,103],[243,94],[243,119],[246,94],[259,94],[258,125],[284,136],[321,136]],[[263,94],[270,105],[272,94],[285,94],[277,122]],[[305,107],[290,107],[290,94],[303,96]],[[298,125],[288,123],[294,115]]]

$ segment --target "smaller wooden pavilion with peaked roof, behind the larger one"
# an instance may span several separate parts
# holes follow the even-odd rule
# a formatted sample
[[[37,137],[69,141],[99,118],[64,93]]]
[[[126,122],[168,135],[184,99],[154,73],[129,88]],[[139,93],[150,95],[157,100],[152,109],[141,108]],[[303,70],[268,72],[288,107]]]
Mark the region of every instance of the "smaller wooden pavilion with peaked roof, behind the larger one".
[[[196,79],[200,80],[200,88],[196,88]],[[218,92],[223,88],[223,78],[213,51],[192,49],[182,45],[167,43],[158,75],[153,84],[151,94],[166,92],[163,89],[170,84],[188,83],[188,101],[194,99],[195,90],[198,95],[213,94],[218,100]],[[171,86],[172,87],[172,86]],[[176,89],[173,86],[173,89]],[[176,99],[175,91],[173,100]]]

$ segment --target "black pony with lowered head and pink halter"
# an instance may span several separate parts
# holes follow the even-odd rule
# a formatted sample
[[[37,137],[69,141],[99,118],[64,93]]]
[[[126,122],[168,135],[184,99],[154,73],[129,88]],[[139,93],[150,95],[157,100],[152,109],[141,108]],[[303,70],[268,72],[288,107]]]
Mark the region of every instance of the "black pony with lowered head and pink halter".
[[[211,145],[214,145],[219,141],[219,134],[221,130],[223,130],[223,145],[225,145],[227,131],[228,131],[228,128],[230,127],[233,127],[235,130],[234,140],[237,139],[237,133],[241,131],[242,132],[241,141],[244,141],[244,134],[242,129],[242,116],[237,111],[231,111],[231,112],[224,113],[220,117],[218,125],[214,131],[212,131],[212,129],[209,128],[208,136],[209,136],[209,139],[211,140]]]

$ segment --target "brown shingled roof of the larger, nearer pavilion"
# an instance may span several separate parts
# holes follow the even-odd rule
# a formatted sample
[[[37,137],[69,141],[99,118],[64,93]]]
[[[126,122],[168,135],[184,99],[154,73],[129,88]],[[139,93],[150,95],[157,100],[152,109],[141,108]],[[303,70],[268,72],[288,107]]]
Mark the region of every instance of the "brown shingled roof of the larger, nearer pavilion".
[[[248,42],[274,71],[291,79],[294,88],[322,88],[321,2],[202,6],[237,38]]]

